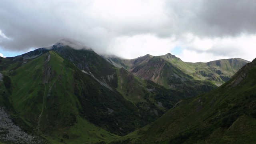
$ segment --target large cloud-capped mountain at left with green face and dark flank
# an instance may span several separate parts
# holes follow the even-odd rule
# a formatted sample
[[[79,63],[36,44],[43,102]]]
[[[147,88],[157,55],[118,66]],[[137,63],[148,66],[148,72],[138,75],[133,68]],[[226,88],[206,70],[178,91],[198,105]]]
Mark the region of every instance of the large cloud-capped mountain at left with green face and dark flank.
[[[1,58],[0,74],[0,116],[7,117],[0,124],[3,142],[110,142],[184,98],[92,50],[63,44]]]

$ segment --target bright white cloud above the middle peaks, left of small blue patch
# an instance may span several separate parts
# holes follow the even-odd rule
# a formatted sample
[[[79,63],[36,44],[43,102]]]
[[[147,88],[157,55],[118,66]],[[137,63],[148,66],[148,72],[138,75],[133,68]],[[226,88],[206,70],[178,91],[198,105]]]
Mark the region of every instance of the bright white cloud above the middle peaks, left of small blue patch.
[[[173,50],[175,44],[174,38],[158,38],[152,34],[123,36],[113,41],[108,53],[130,59],[146,54],[159,56]]]

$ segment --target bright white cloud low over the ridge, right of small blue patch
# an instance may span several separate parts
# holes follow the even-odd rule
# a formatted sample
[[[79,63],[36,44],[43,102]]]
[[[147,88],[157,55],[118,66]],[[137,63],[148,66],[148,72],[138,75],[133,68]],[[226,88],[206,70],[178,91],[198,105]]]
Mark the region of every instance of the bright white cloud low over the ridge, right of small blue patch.
[[[256,35],[240,35],[227,38],[195,38],[184,42],[178,57],[186,62],[209,62],[224,58],[243,58],[252,61],[256,57]],[[203,47],[205,45],[205,48]]]

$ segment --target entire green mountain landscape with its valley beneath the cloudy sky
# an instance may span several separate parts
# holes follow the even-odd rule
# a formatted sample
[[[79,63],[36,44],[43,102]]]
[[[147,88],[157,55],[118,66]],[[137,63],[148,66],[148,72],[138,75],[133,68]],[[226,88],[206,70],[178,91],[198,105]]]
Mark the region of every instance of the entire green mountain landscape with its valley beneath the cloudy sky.
[[[31,139],[22,143],[226,142],[212,140],[240,118],[254,122],[242,114],[254,102],[254,61],[126,60],[61,43],[0,60],[0,118]],[[0,142],[19,143],[0,130]]]

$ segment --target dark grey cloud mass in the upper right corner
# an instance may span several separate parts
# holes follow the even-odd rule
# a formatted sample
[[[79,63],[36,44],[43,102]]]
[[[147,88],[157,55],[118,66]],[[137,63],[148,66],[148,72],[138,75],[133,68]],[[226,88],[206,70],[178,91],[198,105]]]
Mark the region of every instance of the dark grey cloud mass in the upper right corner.
[[[216,36],[256,32],[255,0],[205,0],[199,17]]]

